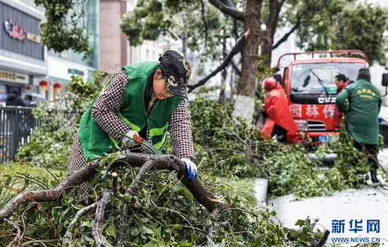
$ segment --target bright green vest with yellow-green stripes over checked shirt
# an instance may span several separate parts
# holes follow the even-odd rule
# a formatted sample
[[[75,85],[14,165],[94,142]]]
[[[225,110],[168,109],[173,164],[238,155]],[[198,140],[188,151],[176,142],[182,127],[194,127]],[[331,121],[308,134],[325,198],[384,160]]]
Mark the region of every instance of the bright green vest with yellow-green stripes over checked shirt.
[[[131,126],[133,131],[137,132],[143,129],[147,123],[152,144],[162,151],[163,145],[166,142],[167,127],[169,126],[167,120],[171,112],[182,101],[182,97],[174,96],[164,100],[157,100],[150,115],[147,116],[144,102],[145,86],[147,85],[148,77],[158,65],[158,61],[145,61],[123,68],[128,75],[128,82],[123,95],[123,106],[117,112],[117,116]],[[95,100],[97,100],[97,97]],[[95,100],[93,100],[92,104]],[[114,145],[118,143],[92,118],[92,104],[87,108],[80,120],[79,136],[85,160],[89,158],[95,159],[104,155],[105,152],[111,151]]]

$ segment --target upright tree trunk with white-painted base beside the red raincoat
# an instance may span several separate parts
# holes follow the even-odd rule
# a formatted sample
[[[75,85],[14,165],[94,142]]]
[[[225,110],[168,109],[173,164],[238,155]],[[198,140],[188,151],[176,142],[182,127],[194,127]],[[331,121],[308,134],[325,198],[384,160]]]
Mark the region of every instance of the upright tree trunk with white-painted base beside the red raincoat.
[[[249,31],[245,42],[241,78],[238,82],[237,97],[234,103],[234,116],[241,116],[252,122],[255,105],[257,63],[259,61],[260,13],[262,0],[248,0],[245,10],[245,32]]]

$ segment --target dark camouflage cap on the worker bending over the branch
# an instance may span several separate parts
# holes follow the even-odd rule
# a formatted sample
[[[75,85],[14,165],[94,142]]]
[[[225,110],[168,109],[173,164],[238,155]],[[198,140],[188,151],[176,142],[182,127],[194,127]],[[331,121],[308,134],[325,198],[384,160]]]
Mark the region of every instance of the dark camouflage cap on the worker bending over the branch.
[[[166,87],[173,95],[188,99],[186,85],[191,76],[190,63],[181,54],[167,51],[159,57],[159,67],[166,80]]]

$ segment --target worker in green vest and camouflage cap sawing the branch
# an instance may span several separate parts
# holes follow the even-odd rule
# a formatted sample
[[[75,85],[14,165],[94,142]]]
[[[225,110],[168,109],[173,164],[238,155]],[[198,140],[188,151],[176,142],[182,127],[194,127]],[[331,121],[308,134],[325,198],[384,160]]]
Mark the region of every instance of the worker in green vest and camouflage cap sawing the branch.
[[[134,135],[162,150],[168,131],[176,157],[186,164],[188,178],[197,177],[186,107],[190,75],[189,62],[172,50],[159,61],[126,66],[114,74],[80,120],[68,162],[69,173],[85,167],[87,159],[110,152],[115,145],[131,147],[131,152],[150,153],[133,148]]]

